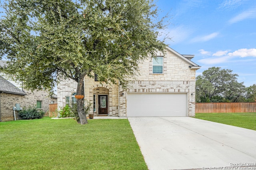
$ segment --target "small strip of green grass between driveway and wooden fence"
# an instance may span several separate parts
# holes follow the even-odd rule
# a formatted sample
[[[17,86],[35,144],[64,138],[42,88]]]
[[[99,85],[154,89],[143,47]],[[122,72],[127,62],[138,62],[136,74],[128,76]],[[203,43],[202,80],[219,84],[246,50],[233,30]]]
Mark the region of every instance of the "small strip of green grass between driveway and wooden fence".
[[[256,130],[256,113],[196,113],[196,118]]]

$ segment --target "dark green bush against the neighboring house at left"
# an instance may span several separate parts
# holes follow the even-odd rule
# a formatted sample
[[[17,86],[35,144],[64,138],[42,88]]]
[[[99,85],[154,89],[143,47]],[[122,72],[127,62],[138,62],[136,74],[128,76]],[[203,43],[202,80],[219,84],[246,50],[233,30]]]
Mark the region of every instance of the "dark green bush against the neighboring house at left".
[[[20,119],[41,119],[44,117],[45,112],[36,109],[36,106],[29,106],[28,108],[23,107],[22,110],[19,111]]]

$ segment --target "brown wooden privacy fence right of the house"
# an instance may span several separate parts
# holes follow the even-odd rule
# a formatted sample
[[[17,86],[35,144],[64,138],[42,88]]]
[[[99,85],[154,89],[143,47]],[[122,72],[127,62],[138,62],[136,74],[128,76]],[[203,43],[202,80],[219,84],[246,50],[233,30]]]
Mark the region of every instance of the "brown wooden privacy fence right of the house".
[[[196,103],[196,113],[256,112],[256,102]]]

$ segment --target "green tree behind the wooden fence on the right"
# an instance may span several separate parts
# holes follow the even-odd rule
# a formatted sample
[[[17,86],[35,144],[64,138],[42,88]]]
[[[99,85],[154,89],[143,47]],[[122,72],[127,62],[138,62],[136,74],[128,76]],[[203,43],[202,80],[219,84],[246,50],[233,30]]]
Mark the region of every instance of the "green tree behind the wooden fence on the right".
[[[196,77],[196,102],[238,102],[245,86],[237,82],[232,70],[211,67]]]

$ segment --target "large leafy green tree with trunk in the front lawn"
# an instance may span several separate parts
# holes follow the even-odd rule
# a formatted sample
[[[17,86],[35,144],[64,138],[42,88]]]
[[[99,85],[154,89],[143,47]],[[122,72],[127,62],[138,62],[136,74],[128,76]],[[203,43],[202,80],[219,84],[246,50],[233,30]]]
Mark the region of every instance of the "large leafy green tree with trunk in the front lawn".
[[[78,82],[98,74],[104,82],[125,86],[138,63],[164,51],[156,30],[153,0],[7,0],[0,20],[0,57],[7,74],[25,88],[51,90],[60,77]],[[80,123],[87,123],[83,100],[77,100]]]

